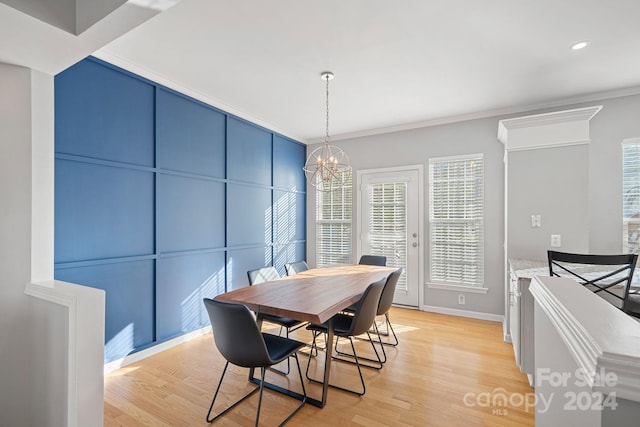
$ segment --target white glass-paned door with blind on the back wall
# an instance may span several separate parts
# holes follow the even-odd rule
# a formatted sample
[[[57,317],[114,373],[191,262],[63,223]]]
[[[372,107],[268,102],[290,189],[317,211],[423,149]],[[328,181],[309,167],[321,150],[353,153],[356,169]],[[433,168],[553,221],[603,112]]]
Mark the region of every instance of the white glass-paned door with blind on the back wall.
[[[402,268],[394,304],[420,305],[422,165],[358,171],[358,257],[384,255]]]

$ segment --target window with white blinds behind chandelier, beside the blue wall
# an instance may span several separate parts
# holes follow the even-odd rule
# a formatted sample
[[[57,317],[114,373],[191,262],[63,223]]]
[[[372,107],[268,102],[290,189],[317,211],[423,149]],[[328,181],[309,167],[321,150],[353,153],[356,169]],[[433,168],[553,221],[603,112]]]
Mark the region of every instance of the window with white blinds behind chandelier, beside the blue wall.
[[[316,265],[351,263],[351,173],[333,191],[316,192]]]

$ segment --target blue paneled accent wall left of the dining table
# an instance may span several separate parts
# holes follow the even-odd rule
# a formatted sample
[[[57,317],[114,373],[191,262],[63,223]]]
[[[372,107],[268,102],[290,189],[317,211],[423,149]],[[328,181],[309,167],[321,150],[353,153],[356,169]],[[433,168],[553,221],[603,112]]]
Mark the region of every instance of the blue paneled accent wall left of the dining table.
[[[55,278],[106,291],[105,362],[306,258],[305,146],[95,58],[55,78]]]

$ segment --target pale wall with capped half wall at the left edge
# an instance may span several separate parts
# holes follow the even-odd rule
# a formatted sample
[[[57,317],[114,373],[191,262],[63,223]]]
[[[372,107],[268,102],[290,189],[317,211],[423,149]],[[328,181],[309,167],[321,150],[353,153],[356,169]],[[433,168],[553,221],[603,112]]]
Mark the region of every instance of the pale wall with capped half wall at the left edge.
[[[104,292],[53,281],[53,95],[0,63],[2,426],[102,425]]]

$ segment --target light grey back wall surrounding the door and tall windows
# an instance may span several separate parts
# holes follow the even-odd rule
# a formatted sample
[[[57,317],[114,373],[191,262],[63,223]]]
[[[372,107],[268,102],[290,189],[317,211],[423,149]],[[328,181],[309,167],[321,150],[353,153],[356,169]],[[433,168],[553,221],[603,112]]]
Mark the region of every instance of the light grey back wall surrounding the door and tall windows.
[[[431,157],[483,153],[485,163],[485,286],[486,295],[466,294],[466,304],[458,305],[458,292],[440,289],[425,289],[422,305],[449,307],[500,315],[503,311],[502,245],[503,245],[503,150],[497,140],[498,119],[471,120],[453,124],[413,129],[376,136],[355,138],[335,142],[351,157],[354,176],[357,170],[392,166],[423,164],[425,180],[428,179],[428,160]],[[309,147],[308,150],[311,150]],[[426,184],[426,183],[425,183]],[[425,192],[427,185],[424,186]],[[315,192],[308,186],[307,235],[308,258],[315,259]],[[357,197],[357,192],[354,191]],[[428,244],[428,197],[425,194],[424,243]],[[354,199],[354,219],[359,215]],[[356,229],[354,224],[353,229]],[[352,247],[357,246],[356,236]],[[354,254],[355,257],[355,254]],[[425,250],[423,266],[427,266],[428,251]],[[355,259],[355,258],[354,258]],[[424,277],[428,280],[428,270]]]

